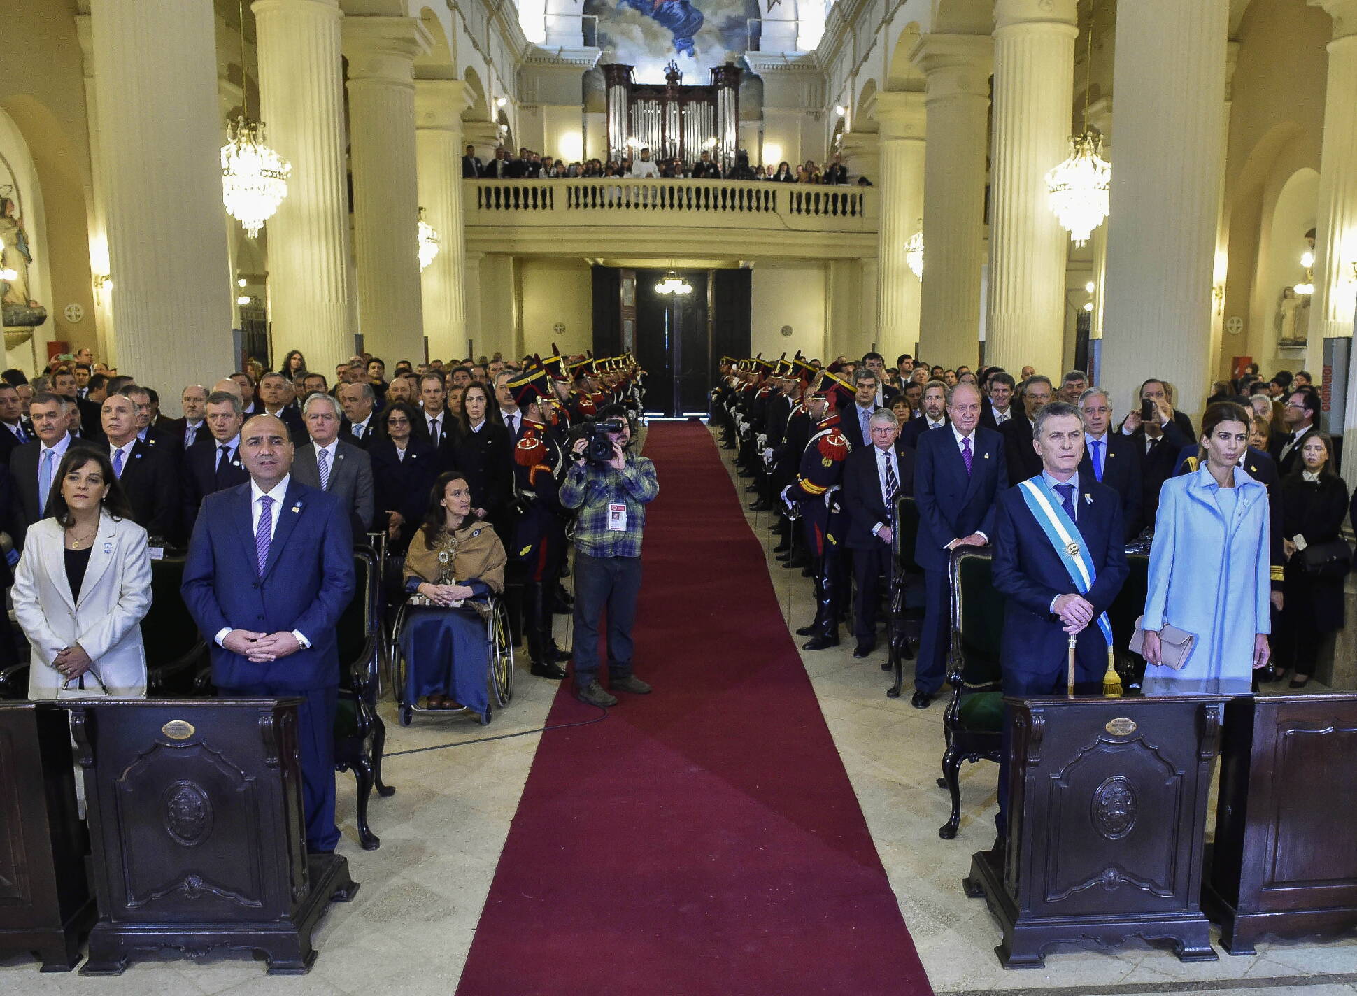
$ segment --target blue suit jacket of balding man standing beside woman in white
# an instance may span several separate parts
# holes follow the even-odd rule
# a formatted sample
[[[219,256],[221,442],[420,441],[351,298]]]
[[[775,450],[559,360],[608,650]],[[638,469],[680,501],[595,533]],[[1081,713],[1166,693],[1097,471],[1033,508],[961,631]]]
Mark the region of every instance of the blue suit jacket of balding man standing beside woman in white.
[[[183,566],[183,601],[212,650],[218,688],[273,685],[307,692],[339,684],[335,624],[353,598],[349,510],[319,489],[288,482],[263,577],[255,555],[250,484],[202,499]],[[216,645],[223,627],[303,634],[309,649],[251,664]]]

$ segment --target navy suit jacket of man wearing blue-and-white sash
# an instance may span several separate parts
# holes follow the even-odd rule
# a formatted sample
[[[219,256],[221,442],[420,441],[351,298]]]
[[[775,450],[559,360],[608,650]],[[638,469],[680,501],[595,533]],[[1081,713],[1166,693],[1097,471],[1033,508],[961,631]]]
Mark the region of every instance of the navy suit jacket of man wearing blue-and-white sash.
[[[1129,571],[1125,532],[1121,518],[1121,495],[1099,484],[1091,474],[1079,472],[1075,525],[1094,562],[1096,578],[1088,594],[1094,609],[1105,612],[1121,592]],[[995,589],[1004,604],[1003,668],[1012,674],[1049,674],[1052,681],[1064,673],[1068,640],[1060,617],[1050,612],[1057,594],[1077,592],[1069,571],[1041,524],[1031,514],[1020,487],[999,495],[995,506],[993,562]],[[1118,638],[1129,638],[1120,634]],[[1096,621],[1079,634],[1079,666],[1101,677],[1107,664],[1107,640]]]

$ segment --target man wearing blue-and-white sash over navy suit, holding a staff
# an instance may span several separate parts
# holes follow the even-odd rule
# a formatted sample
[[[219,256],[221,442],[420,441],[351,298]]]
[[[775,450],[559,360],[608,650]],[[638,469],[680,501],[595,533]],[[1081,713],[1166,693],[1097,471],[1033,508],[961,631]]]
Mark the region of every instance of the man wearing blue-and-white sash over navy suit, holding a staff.
[[[1063,695],[1069,636],[1076,636],[1076,683],[1098,683],[1113,645],[1107,607],[1126,579],[1121,497],[1080,474],[1084,426],[1077,408],[1053,402],[1037,413],[1033,449],[1041,474],[999,495],[993,585],[1006,597],[1003,691],[1007,696]],[[999,764],[999,839],[1008,809],[1008,745]]]

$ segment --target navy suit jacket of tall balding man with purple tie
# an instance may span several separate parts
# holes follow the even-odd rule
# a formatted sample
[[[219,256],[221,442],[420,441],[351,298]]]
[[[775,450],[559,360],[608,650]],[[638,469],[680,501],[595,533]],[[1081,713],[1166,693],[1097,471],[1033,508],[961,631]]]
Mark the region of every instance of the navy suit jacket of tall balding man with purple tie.
[[[961,459],[951,426],[919,437],[915,456],[915,503],[919,537],[915,563],[924,570],[947,570],[946,545],[982,532],[995,537],[995,498],[1008,487],[1004,441],[993,429],[976,426],[972,472]]]

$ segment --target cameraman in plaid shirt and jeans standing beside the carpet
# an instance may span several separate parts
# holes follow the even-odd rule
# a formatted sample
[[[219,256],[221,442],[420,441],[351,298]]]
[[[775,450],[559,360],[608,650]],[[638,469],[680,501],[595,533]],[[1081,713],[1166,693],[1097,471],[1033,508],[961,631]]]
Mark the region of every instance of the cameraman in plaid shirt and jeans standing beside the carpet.
[[[560,503],[575,521],[575,697],[616,706],[598,684],[598,623],[608,609],[608,676],[612,691],[645,695],[650,685],[631,673],[631,624],[641,592],[641,532],[646,505],[660,494],[655,465],[627,452],[631,423],[620,406],[577,430],[574,465],[560,486]],[[611,456],[609,456],[611,452]]]

